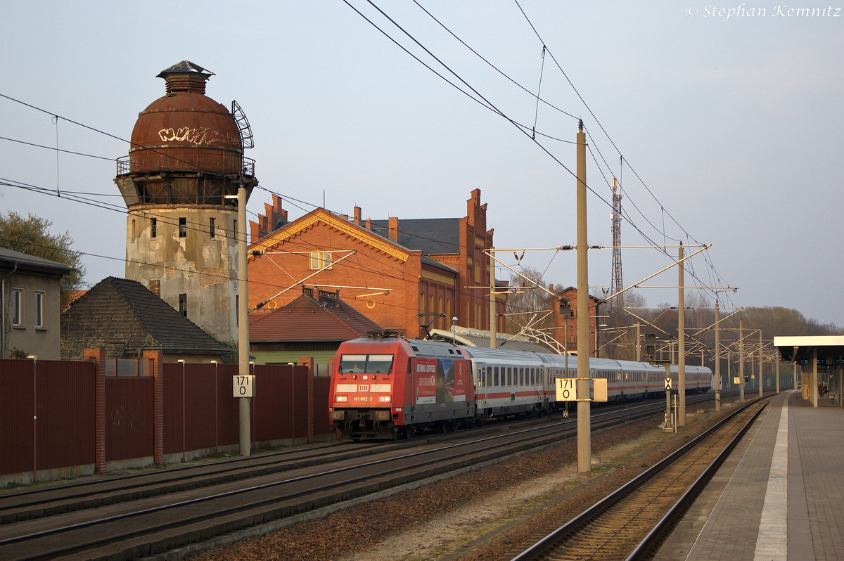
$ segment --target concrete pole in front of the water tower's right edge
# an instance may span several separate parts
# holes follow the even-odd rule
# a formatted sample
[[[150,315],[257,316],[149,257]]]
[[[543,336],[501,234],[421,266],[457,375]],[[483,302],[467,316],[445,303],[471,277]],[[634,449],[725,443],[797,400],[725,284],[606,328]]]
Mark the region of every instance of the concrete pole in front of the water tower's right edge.
[[[238,375],[249,375],[249,293],[246,288],[246,186],[237,189],[237,364]],[[240,399],[241,456],[250,456],[252,438],[249,398]]]

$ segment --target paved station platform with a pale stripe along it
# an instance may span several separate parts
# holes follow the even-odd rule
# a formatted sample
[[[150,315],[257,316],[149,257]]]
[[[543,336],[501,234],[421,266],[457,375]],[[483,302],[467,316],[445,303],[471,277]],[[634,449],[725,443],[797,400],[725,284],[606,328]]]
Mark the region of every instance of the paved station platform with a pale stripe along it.
[[[655,559],[844,559],[844,409],[819,405],[774,396]]]

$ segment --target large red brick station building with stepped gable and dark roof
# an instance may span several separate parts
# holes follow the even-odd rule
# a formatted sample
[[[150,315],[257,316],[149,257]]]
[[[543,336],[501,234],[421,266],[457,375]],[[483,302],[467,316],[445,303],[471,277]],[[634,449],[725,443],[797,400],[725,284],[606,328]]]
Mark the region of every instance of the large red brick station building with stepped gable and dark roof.
[[[372,321],[407,337],[425,334],[420,324],[448,329],[490,326],[490,259],[493,230],[475,189],[463,218],[371,220],[317,208],[287,222],[281,199],[252,222],[249,305],[273,310],[301,294],[300,285],[339,290]],[[479,288],[466,288],[479,287]],[[504,331],[506,301],[497,302]],[[437,317],[439,314],[443,316]]]

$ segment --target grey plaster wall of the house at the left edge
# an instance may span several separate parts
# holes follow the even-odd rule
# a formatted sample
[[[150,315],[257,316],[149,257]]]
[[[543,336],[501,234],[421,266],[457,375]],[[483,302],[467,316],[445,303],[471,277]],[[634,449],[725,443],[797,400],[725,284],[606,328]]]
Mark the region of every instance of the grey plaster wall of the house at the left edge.
[[[14,350],[25,355],[35,355],[39,360],[57,360],[61,354],[59,322],[58,278],[41,277],[21,272],[9,275],[4,281],[5,294],[3,302],[3,321],[6,336],[6,356]],[[12,293],[14,289],[21,289],[21,322],[19,326],[12,325]],[[41,292],[43,298],[43,326],[35,326],[35,293]],[[6,358],[6,357],[0,357]]]

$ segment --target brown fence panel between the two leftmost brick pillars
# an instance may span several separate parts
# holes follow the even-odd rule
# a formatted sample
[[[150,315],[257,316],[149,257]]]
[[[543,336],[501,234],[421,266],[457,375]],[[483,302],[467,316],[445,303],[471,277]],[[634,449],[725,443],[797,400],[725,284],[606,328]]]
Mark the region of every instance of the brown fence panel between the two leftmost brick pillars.
[[[106,461],[153,456],[152,376],[106,377]]]

